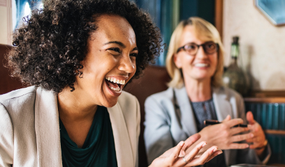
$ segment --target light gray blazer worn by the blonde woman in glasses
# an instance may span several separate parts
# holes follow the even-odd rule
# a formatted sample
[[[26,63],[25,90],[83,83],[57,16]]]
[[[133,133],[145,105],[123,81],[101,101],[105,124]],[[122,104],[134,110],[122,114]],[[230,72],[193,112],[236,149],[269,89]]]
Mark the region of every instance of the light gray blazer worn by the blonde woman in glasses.
[[[234,90],[225,87],[213,88],[212,98],[219,121],[228,115],[246,121],[244,101]],[[196,133],[196,120],[185,87],[168,88],[147,97],[144,137],[149,164],[166,150]],[[269,146],[267,150],[268,154],[263,161],[258,158],[254,150],[224,150],[226,165],[265,164],[271,155]]]

